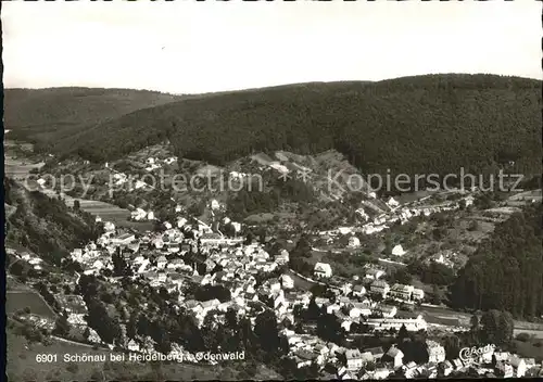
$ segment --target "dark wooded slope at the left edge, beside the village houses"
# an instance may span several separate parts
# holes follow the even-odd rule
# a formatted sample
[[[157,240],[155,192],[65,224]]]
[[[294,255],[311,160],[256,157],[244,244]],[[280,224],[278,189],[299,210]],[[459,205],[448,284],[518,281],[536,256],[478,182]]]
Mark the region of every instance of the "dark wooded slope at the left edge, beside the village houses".
[[[5,203],[16,208],[7,218],[8,245],[22,245],[59,265],[74,247],[98,238],[101,228],[91,215],[39,191],[28,192],[10,178],[3,184]]]

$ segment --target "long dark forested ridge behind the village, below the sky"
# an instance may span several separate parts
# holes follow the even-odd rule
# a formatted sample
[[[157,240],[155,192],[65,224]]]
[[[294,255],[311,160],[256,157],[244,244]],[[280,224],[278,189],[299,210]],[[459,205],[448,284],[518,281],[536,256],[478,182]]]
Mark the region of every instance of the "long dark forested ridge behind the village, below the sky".
[[[293,85],[140,110],[52,149],[118,158],[164,139],[176,154],[224,164],[258,151],[337,149],[364,173],[541,171],[541,81],[427,75],[378,82]]]

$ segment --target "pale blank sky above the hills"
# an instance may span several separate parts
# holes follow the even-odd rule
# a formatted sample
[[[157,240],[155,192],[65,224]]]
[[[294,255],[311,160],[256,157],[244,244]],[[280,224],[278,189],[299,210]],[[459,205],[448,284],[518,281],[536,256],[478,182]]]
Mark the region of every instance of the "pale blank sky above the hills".
[[[541,2],[2,3],[4,87],[171,93],[429,73],[542,79]]]

